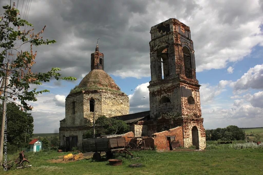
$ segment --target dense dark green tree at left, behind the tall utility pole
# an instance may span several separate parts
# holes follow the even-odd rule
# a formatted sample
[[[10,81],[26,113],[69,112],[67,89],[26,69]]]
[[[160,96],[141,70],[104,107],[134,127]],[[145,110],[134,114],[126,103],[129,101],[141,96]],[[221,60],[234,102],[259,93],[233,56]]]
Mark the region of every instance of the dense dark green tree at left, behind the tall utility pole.
[[[0,106],[2,107],[2,105]],[[2,115],[2,111],[0,111],[0,113]],[[7,121],[8,144],[17,148],[28,147],[34,130],[32,115],[20,110],[15,103],[9,102],[7,104]]]

